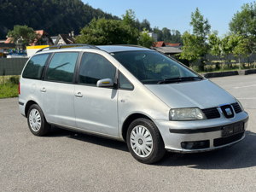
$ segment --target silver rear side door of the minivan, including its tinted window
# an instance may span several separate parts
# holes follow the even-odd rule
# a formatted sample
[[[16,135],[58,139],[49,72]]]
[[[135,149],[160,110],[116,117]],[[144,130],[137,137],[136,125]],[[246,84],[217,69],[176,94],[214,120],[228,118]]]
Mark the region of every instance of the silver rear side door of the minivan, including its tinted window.
[[[58,52],[49,62],[40,88],[49,123],[76,127],[73,74],[78,56],[79,52]]]

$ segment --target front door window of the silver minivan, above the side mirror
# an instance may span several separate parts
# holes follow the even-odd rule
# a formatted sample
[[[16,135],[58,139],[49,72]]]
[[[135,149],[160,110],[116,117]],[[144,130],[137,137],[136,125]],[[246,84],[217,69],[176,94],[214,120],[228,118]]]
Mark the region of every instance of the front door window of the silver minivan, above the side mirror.
[[[79,84],[96,86],[100,79],[114,81],[115,67],[102,55],[84,53],[79,70]]]

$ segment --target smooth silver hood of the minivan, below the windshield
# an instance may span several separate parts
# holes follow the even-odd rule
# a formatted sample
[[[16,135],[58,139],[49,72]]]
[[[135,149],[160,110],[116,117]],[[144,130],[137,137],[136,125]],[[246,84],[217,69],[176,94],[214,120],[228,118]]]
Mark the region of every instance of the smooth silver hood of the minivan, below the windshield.
[[[170,108],[214,108],[236,102],[234,96],[208,79],[176,84],[145,84]]]

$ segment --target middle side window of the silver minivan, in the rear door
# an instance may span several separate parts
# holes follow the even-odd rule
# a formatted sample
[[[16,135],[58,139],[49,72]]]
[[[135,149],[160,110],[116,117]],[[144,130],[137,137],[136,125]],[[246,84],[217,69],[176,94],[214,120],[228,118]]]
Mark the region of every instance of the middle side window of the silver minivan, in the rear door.
[[[77,52],[55,53],[49,63],[45,79],[72,83],[78,56],[79,53]]]

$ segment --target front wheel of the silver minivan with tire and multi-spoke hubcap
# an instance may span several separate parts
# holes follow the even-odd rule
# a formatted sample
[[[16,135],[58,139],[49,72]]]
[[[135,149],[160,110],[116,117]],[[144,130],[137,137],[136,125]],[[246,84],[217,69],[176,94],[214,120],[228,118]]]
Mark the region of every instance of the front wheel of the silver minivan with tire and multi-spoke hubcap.
[[[144,164],[152,164],[166,153],[160,131],[149,119],[132,121],[128,127],[126,142],[132,156]]]

